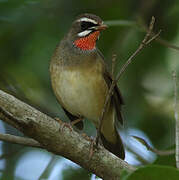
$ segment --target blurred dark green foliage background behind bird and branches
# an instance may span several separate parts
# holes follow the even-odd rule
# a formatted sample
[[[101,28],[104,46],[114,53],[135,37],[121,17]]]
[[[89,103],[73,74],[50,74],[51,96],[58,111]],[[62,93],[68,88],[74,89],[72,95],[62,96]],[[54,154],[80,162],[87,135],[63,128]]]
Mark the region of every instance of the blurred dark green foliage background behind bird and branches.
[[[49,60],[74,18],[85,12],[111,23],[101,35],[98,47],[109,66],[112,55],[117,55],[116,73],[142,41],[151,16],[156,18],[155,32],[162,29],[160,38],[179,46],[177,0],[0,0],[0,89],[67,121],[51,89]],[[134,23],[119,24],[118,20]],[[117,24],[112,26],[114,21]],[[172,70],[179,72],[179,51],[153,42],[119,81],[125,100],[121,131],[127,144],[126,161],[131,164],[175,164],[173,156],[156,157],[131,138],[140,136],[158,149],[174,147]],[[95,135],[87,120],[84,131]],[[3,122],[0,132],[22,135]],[[95,178],[44,150],[0,142],[0,153],[0,178],[4,180]]]

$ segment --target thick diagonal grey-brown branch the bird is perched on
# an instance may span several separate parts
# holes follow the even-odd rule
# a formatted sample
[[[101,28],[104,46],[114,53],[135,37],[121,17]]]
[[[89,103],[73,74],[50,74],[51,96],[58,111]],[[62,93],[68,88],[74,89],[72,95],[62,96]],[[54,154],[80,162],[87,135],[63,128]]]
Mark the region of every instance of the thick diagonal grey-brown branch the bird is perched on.
[[[54,154],[64,156],[103,179],[120,179],[135,168],[102,146],[89,159],[91,142],[53,118],[0,90],[0,118]],[[63,129],[63,130],[61,130]]]

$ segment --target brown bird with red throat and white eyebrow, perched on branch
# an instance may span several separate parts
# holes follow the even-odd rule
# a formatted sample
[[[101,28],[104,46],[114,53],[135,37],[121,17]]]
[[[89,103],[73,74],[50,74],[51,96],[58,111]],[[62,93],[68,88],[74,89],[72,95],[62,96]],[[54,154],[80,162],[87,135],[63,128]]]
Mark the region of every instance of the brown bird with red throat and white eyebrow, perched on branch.
[[[78,129],[84,118],[99,129],[99,118],[105,97],[112,84],[112,75],[96,42],[107,28],[102,19],[84,13],[76,17],[70,30],[56,46],[50,60],[50,77],[54,94],[66,115]],[[125,150],[117,130],[117,120],[123,124],[124,104],[117,85],[110,98],[100,129],[104,148],[124,159]]]

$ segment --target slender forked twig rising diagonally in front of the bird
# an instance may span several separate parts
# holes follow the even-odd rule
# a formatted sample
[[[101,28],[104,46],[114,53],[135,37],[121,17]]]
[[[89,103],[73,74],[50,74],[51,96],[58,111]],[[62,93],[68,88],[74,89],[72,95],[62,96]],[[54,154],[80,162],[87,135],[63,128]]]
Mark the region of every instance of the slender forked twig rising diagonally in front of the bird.
[[[120,72],[117,74],[117,78],[116,80],[113,80],[112,84],[111,84],[111,87],[109,89],[109,92],[106,96],[106,99],[105,99],[105,103],[104,103],[104,106],[103,106],[103,110],[102,110],[102,113],[101,113],[101,116],[99,118],[99,122],[100,122],[100,125],[99,125],[99,129],[98,129],[98,133],[97,133],[97,138],[96,138],[96,144],[98,145],[98,142],[99,142],[99,138],[100,138],[100,131],[101,131],[101,127],[102,127],[102,123],[103,123],[103,119],[104,119],[104,114],[105,114],[105,111],[107,109],[107,105],[108,105],[108,102],[109,102],[109,99],[112,95],[112,92],[113,92],[113,89],[115,87],[115,85],[117,84],[118,80],[120,79],[121,75],[125,72],[127,66],[132,62],[132,60],[134,59],[134,57],[144,48],[146,47],[148,44],[150,44],[153,40],[155,40],[159,35],[160,35],[160,32],[159,31],[156,35],[151,36],[151,33],[152,33],[152,30],[153,30],[153,26],[154,26],[154,23],[155,23],[155,18],[152,17],[151,19],[151,22],[150,22],[150,25],[149,25],[149,29],[148,29],[148,32],[147,34],[145,35],[143,41],[140,43],[139,47],[137,48],[137,50],[129,57],[129,59],[127,60],[127,62],[122,66]]]

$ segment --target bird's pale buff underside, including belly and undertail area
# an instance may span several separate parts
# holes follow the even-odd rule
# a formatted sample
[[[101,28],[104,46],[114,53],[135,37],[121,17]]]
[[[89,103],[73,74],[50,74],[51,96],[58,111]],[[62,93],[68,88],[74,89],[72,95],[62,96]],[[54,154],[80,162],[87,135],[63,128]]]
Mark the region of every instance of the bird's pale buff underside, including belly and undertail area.
[[[91,120],[98,128],[99,117],[108,92],[108,86],[100,71],[101,67],[88,67],[85,70],[60,66],[54,68],[58,68],[58,71],[55,77],[52,77],[52,86],[62,106],[73,115]],[[114,129],[114,107],[110,106],[105,114],[102,131],[105,131],[105,136],[108,136],[111,142],[116,139],[115,134],[111,134],[112,129]]]

